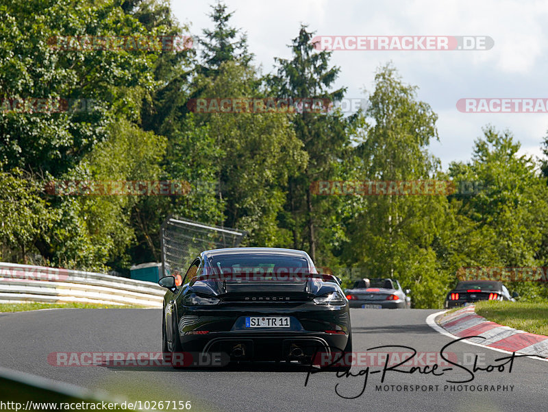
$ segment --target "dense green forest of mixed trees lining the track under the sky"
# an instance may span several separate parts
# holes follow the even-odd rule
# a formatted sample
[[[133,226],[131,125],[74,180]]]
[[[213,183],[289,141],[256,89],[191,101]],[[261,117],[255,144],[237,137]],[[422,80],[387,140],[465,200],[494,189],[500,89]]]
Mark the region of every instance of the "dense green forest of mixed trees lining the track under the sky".
[[[443,170],[429,152],[443,138],[437,115],[393,64],[379,64],[362,110],[341,110],[341,68],[315,49],[313,27],[302,25],[287,39],[291,57],[263,73],[231,16],[215,3],[213,28],[173,47],[190,32],[165,1],[0,0],[1,261],[124,274],[160,260],[160,225],[177,215],[246,230],[245,246],[306,250],[346,284],[393,276],[415,307],[440,306],[461,267],[548,266],[548,162],[519,156],[512,132],[486,125],[470,160]],[[214,99],[333,104],[196,110]],[[548,154],[548,139],[539,144]],[[166,196],[51,190],[75,180],[189,186]],[[419,180],[480,189],[317,190]],[[522,300],[548,298],[546,283],[509,287]]]

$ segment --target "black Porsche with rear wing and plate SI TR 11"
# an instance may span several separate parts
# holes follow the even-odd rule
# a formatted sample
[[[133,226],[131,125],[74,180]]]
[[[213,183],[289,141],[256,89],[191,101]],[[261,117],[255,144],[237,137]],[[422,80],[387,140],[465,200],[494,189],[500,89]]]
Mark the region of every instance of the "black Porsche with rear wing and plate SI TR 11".
[[[315,353],[344,356],[352,350],[349,303],[340,282],[317,274],[306,252],[207,250],[195,258],[179,287],[173,276],[158,283],[169,289],[162,346],[171,359],[182,351],[224,352],[231,361],[308,364]]]

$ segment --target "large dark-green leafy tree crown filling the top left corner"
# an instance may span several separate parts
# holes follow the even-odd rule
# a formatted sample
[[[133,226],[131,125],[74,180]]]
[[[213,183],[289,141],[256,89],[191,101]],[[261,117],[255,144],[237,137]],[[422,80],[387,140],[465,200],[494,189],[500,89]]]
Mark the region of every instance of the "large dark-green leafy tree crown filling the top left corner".
[[[0,6],[0,96],[4,103],[38,98],[95,100],[95,110],[90,112],[5,110],[0,117],[0,161],[5,168],[61,175],[106,138],[113,117],[131,118],[139,112],[142,93],[153,87],[149,69],[155,53],[55,47],[58,36],[151,34],[116,3],[6,0]]]

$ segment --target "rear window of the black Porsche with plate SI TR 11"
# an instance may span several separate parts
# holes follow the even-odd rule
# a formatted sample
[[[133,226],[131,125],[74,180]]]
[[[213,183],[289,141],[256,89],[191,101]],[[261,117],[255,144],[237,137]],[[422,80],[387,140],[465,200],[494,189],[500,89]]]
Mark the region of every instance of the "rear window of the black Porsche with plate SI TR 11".
[[[303,274],[310,271],[308,260],[299,256],[226,255],[213,256],[209,266],[214,273]]]

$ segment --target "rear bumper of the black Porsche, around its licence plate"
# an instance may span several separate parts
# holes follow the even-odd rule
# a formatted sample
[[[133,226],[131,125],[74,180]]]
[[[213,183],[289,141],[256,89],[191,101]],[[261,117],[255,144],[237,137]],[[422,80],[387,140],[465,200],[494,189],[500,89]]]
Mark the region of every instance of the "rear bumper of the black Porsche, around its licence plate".
[[[246,318],[257,316],[289,317],[290,327],[248,328]],[[223,305],[186,311],[179,318],[179,337],[185,352],[225,352],[232,360],[242,361],[302,360],[297,348],[306,356],[344,350],[350,330],[346,305]],[[236,356],[236,348],[244,353]]]

